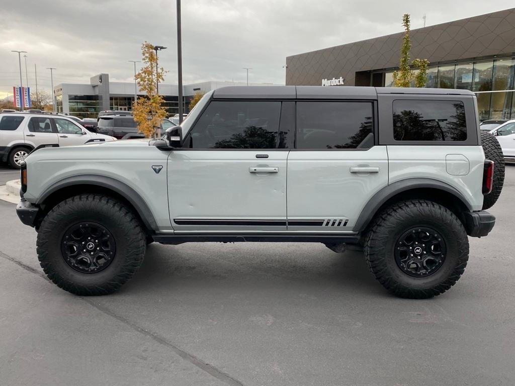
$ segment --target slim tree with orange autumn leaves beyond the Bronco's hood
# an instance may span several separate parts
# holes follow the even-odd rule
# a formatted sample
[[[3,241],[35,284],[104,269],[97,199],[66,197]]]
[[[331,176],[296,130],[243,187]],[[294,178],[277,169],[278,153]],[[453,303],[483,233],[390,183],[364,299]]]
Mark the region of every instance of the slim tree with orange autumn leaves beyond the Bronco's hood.
[[[134,120],[138,124],[138,129],[151,138],[160,135],[160,125],[166,117],[166,108],[163,106],[164,99],[157,93],[157,82],[164,81],[164,68],[157,67],[158,58],[152,44],[145,42],[141,46],[143,67],[136,74],[136,82],[140,87],[140,92],[144,96],[138,97],[132,107]]]

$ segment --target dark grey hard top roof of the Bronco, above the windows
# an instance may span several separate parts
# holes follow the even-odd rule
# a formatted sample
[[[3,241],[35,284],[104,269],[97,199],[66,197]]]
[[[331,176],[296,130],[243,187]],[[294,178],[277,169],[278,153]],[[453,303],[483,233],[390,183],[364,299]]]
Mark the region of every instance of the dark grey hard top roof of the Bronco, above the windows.
[[[376,99],[377,94],[474,95],[469,90],[361,86],[227,86],[214,99]]]

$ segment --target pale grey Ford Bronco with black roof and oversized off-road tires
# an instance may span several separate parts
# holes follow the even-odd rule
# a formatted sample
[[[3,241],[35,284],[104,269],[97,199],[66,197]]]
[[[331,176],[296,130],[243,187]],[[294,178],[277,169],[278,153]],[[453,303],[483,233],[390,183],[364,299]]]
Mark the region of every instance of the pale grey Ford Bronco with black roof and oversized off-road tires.
[[[41,149],[21,176],[41,266],[76,294],[117,290],[152,241],[287,241],[363,249],[385,288],[424,298],[492,230],[504,164],[470,91],[242,86],[165,139]]]

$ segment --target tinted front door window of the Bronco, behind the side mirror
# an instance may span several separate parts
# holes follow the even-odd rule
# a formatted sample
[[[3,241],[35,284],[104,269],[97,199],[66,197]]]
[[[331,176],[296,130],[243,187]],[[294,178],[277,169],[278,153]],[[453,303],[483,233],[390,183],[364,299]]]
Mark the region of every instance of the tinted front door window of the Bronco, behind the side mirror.
[[[281,102],[212,101],[186,146],[196,149],[274,149]]]

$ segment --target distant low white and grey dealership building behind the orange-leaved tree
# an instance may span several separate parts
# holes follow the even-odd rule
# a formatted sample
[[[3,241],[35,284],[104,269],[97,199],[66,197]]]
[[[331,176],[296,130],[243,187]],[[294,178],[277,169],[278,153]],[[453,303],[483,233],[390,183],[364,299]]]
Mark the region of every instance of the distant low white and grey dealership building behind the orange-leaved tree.
[[[207,93],[224,86],[243,86],[246,82],[208,81],[183,85],[182,95],[185,112],[195,93]],[[249,85],[274,85],[272,83],[249,83]],[[134,82],[110,82],[109,74],[98,74],[89,84],[60,83],[54,87],[57,112],[82,118],[96,118],[99,111],[131,111],[134,103]],[[176,84],[159,84],[169,115],[179,113],[179,87]],[[139,92],[138,97],[144,94]]]

